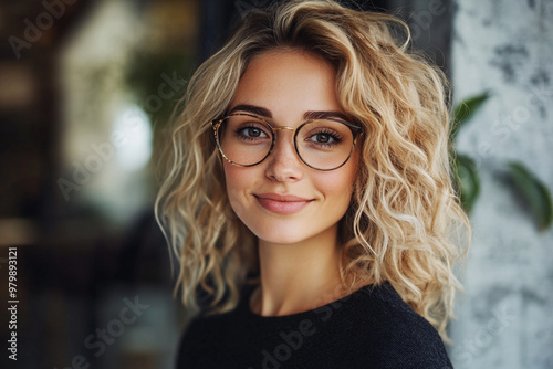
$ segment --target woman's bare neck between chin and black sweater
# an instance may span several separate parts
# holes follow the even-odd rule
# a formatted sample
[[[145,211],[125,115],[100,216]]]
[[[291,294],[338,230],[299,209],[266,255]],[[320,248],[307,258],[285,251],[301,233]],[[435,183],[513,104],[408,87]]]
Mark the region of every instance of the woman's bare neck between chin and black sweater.
[[[259,240],[261,286],[251,309],[281,316],[313,309],[341,298],[337,226],[295,244]]]

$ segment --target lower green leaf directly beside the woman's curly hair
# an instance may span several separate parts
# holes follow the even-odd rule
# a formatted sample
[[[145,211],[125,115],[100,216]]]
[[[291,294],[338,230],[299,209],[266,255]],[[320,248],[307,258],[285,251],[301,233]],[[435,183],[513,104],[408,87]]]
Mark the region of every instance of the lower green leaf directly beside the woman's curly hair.
[[[461,205],[467,213],[470,213],[480,193],[480,177],[477,166],[472,158],[462,154],[455,157],[453,165],[456,189],[461,199]]]

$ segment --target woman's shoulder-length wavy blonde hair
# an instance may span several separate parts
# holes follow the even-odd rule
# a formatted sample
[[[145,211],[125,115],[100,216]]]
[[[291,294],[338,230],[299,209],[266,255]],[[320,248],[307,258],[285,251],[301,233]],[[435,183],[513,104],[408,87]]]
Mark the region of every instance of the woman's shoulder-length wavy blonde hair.
[[[338,102],[364,126],[352,203],[340,222],[343,281],[388,281],[450,342],[446,326],[462,289],[453,266],[468,251],[470,224],[451,182],[447,82],[409,49],[409,38],[393,15],[290,1],[250,12],[199,66],[174,119],[156,201],[186,307],[198,308],[201,285],[211,296],[208,314],[229,312],[241,286],[259,282],[249,278],[259,273],[257,240],[229,204],[210,123],[227,110],[249,61],[285,48],[330,62]]]

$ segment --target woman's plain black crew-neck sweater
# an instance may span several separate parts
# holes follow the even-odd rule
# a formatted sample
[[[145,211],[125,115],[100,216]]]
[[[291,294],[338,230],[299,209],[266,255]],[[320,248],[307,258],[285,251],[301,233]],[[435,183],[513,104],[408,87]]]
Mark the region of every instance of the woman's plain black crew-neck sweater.
[[[252,291],[230,313],[192,319],[178,369],[452,368],[436,329],[389,283],[276,317],[251,312]]]

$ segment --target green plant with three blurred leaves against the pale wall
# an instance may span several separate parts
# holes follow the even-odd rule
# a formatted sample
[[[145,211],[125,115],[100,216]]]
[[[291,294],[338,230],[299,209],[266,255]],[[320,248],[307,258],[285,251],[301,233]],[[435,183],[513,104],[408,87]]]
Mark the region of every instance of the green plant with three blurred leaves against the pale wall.
[[[449,135],[453,183],[461,204],[467,213],[472,210],[480,193],[480,177],[474,159],[459,154],[455,139],[462,128],[490,97],[488,92],[460,102],[453,109],[452,125]],[[533,175],[522,162],[510,161],[507,165],[508,177],[514,193],[528,205],[540,231],[551,226],[553,222],[553,202],[546,186]]]

